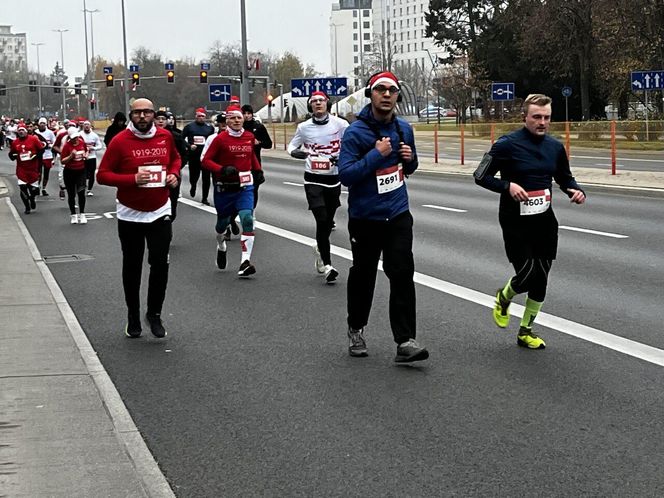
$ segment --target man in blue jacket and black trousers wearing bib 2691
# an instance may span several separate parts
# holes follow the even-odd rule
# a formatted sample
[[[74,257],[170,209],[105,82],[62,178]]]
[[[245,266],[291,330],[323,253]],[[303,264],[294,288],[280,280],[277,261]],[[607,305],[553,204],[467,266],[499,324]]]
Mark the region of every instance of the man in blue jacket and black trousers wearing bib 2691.
[[[417,169],[415,137],[395,114],[399,80],[374,74],[365,88],[371,100],[346,129],[339,155],[339,179],[348,187],[348,231],[353,266],[348,275],[348,353],[367,356],[364,327],[369,321],[381,253],[390,280],[390,325],[397,363],[426,360],[415,341],[413,217],[405,177]]]

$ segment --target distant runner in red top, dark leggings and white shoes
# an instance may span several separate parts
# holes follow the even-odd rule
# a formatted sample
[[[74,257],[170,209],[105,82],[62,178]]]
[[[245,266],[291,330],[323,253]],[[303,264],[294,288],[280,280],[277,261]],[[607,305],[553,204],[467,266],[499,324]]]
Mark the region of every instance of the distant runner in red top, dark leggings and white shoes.
[[[85,160],[88,158],[88,148],[78,128],[70,126],[67,130],[67,141],[62,145],[60,156],[62,179],[67,190],[69,222],[72,225],[85,225],[88,222],[85,216]],[[76,214],[76,197],[79,214]]]

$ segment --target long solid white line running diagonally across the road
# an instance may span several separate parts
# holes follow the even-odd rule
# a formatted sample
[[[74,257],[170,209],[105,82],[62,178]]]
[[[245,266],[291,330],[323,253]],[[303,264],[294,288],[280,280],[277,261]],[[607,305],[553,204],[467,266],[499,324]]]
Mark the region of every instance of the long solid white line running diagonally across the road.
[[[209,213],[215,213],[214,208],[209,206],[202,206],[198,202],[191,201],[190,199],[182,198],[180,199],[180,202],[191,207],[207,211]],[[265,232],[283,237],[288,240],[292,240],[308,247],[311,247],[316,243],[316,241],[310,237],[306,237],[289,230],[284,230],[283,228],[268,225],[266,223],[256,222],[256,227],[264,230]],[[349,261],[353,260],[353,255],[348,249],[333,245],[330,247],[330,252],[335,256],[339,256]],[[383,269],[382,263],[378,264],[378,268],[380,270]],[[494,300],[496,299],[496,296],[482,294],[476,290],[468,289],[466,287],[462,287],[451,282],[446,282],[445,280],[440,280],[438,278],[431,277],[419,272],[415,272],[414,279],[415,282],[420,285],[424,285],[430,289],[449,294],[450,296],[458,297],[466,301],[479,304],[486,308],[493,308],[494,306]],[[516,318],[521,318],[523,315],[523,310],[523,306],[516,303],[512,303],[512,306],[510,306],[510,314]],[[544,327],[557,330],[563,334],[567,334],[584,341],[592,342],[598,346],[613,349],[614,351],[632,356],[633,358],[639,358],[643,361],[664,367],[664,350],[648,346],[647,344],[632,341],[631,339],[625,339],[624,337],[613,335],[593,327],[588,327],[587,325],[583,325],[581,323],[576,323],[571,320],[557,317],[555,315],[550,315],[549,313],[539,313],[537,315],[537,323],[543,325]]]

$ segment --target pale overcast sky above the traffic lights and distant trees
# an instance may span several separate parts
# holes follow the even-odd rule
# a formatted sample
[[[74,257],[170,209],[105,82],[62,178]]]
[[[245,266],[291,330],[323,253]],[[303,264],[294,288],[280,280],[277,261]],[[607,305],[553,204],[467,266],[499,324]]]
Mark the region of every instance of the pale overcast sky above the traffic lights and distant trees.
[[[7,0],[3,0],[5,3]],[[95,55],[123,60],[121,0],[86,0],[92,14]],[[330,71],[329,18],[333,0],[246,0],[249,51],[295,53],[303,65],[313,64],[320,73]],[[285,7],[284,7],[285,6]],[[193,57],[204,60],[215,40],[240,43],[240,0],[125,0],[127,52],[144,46],[164,60]],[[88,14],[88,42],[90,14]],[[83,0],[27,0],[11,2],[0,15],[14,33],[26,33],[28,64],[37,69],[39,47],[42,73],[50,74],[60,61],[63,34],[67,74],[82,76],[85,68]],[[89,49],[90,50],[90,49]]]

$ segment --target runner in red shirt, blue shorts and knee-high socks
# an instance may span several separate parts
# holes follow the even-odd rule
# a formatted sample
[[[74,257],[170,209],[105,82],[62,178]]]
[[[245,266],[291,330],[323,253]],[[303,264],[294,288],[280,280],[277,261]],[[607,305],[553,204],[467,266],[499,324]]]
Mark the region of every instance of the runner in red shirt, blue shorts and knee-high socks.
[[[242,257],[238,275],[248,277],[256,273],[251,264],[254,247],[254,177],[261,169],[254,154],[254,135],[242,127],[244,118],[239,106],[226,109],[226,131],[217,135],[205,153],[203,167],[214,174],[214,206],[217,209],[217,267],[226,268],[226,240],[224,232],[235,213],[242,224]]]

